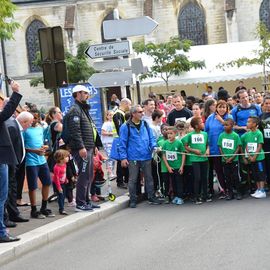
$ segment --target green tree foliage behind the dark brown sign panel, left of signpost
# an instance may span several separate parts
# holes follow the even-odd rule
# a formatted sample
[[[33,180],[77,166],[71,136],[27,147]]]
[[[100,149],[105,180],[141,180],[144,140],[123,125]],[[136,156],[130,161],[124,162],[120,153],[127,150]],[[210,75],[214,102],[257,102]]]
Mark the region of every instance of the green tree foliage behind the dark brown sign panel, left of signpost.
[[[65,53],[65,62],[67,65],[67,73],[69,83],[87,82],[89,77],[95,73],[94,68],[90,67],[87,63],[87,56],[85,50],[89,46],[90,41],[83,41],[77,46],[77,55],[73,56],[71,53]],[[42,65],[41,55],[38,51],[34,64],[37,66]],[[31,86],[38,86],[43,83],[43,77],[32,78],[30,81]]]

